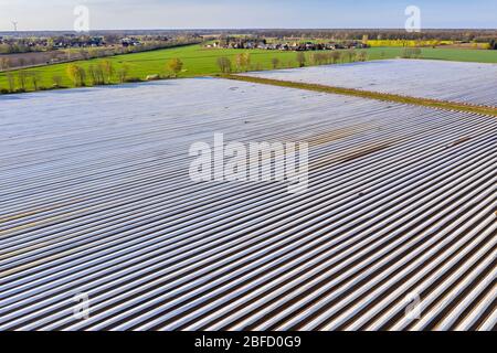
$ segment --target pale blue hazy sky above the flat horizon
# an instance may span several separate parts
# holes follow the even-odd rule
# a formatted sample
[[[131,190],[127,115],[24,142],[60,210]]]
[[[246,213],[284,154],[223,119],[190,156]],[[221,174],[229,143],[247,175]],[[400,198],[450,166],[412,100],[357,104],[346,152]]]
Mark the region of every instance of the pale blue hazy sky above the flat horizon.
[[[77,6],[91,30],[401,29],[409,6],[422,29],[497,29],[496,0],[0,0],[0,31],[72,30]]]

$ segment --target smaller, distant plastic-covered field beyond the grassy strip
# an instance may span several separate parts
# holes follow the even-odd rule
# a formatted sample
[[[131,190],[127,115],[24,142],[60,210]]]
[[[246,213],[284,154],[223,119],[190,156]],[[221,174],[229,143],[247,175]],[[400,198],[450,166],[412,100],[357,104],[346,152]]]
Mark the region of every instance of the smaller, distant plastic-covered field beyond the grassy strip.
[[[247,75],[497,106],[497,64],[384,60]]]

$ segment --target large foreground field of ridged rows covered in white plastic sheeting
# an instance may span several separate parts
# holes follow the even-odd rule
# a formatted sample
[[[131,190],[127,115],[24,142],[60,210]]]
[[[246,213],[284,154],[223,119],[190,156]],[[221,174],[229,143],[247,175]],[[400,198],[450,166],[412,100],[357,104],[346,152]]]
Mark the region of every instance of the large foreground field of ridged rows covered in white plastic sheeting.
[[[191,182],[214,131],[307,141],[308,192]],[[491,330],[496,131],[209,78],[1,97],[0,330]]]

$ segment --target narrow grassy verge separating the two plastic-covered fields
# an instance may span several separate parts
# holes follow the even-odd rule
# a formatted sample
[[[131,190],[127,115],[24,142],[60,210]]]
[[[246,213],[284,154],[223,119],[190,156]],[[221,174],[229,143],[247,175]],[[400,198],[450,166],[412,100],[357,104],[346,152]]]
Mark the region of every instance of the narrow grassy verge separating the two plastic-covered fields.
[[[339,94],[339,95],[346,95],[346,96],[355,96],[355,97],[361,97],[361,98],[370,98],[370,99],[377,99],[377,100],[383,100],[383,101],[394,101],[394,103],[417,105],[417,106],[446,109],[446,110],[458,110],[458,111],[466,111],[466,113],[484,114],[484,115],[490,115],[490,116],[497,117],[497,108],[468,105],[468,104],[462,104],[462,103],[452,103],[452,101],[427,99],[427,98],[415,98],[415,97],[408,97],[408,96],[401,96],[401,95],[394,95],[394,94],[377,93],[377,92],[371,92],[371,90],[342,88],[342,87],[325,86],[325,85],[317,85],[317,84],[306,84],[306,83],[300,83],[300,82],[279,81],[279,79],[261,78],[261,77],[253,77],[253,76],[241,76],[241,75],[230,75],[230,74],[223,74],[223,75],[218,75],[218,76],[222,77],[222,78],[228,78],[228,79],[250,82],[250,83],[256,83],[256,84],[263,84],[263,85],[307,89],[307,90]]]

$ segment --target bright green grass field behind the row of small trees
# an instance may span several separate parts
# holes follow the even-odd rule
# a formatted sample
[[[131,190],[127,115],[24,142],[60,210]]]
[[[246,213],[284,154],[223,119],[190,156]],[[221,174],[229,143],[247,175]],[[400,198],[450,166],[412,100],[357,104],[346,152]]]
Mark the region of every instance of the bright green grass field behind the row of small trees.
[[[368,60],[393,58],[402,53],[402,47],[372,47],[366,50]],[[75,62],[84,68],[98,61],[109,60],[117,69],[124,63],[129,66],[128,77],[137,77],[145,79],[147,75],[166,74],[167,63],[173,57],[179,57],[183,62],[183,72],[179,77],[192,77],[202,75],[213,75],[220,73],[216,60],[220,56],[232,58],[239,53],[246,52],[245,50],[220,50],[205,49],[202,45],[190,45],[176,49],[165,49],[152,52],[116,55],[107,58],[96,58],[89,61]],[[281,67],[296,67],[295,52],[279,52],[279,51],[264,51],[251,50],[251,63],[256,69],[272,69],[272,60],[277,57]],[[311,53],[306,52],[309,56]],[[432,60],[450,60],[463,62],[482,62],[482,63],[497,63],[497,51],[483,50],[455,50],[455,49],[422,49],[423,58]],[[72,87],[73,83],[66,74],[68,64],[54,64],[36,68],[27,68],[25,72],[36,72],[40,77],[40,86],[52,87],[53,77],[63,77],[63,85]],[[13,72],[17,74],[17,72]],[[117,77],[115,78],[117,82]],[[6,73],[0,73],[0,89],[8,88]],[[32,84],[28,82],[27,89],[33,89]]]

